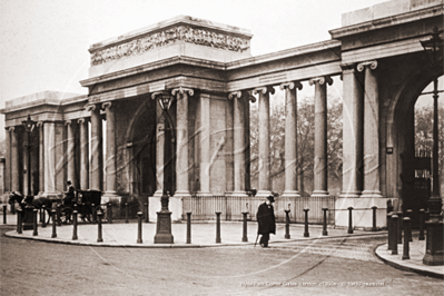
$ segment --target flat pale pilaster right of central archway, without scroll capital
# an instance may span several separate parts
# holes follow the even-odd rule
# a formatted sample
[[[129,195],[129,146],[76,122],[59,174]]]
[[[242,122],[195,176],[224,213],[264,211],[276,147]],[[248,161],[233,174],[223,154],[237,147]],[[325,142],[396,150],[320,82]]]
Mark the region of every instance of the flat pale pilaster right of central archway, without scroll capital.
[[[210,122],[209,122],[209,109],[210,97],[207,93],[200,93],[200,189],[198,191],[199,196],[210,196],[209,191],[209,137],[210,137]]]

